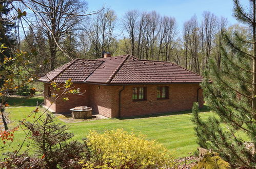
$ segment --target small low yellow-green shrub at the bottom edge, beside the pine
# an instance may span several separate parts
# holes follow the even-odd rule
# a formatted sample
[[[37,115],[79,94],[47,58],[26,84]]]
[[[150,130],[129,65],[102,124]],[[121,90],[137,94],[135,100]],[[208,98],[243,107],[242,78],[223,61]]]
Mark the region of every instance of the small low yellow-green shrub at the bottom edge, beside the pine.
[[[224,161],[218,153],[207,153],[199,163],[192,167],[192,169],[226,169],[230,168],[228,162]]]

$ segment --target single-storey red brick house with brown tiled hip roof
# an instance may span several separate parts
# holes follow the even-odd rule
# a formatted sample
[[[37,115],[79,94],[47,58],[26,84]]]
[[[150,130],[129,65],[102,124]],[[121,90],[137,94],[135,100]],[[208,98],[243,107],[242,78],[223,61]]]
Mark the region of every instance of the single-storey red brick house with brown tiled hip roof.
[[[62,83],[69,78],[83,94],[61,95],[55,100],[51,94],[57,91],[51,81]],[[111,118],[190,110],[195,101],[202,108],[202,80],[168,61],[110,54],[96,60],[77,58],[40,78],[45,83],[45,106],[51,111],[70,112],[82,105]]]

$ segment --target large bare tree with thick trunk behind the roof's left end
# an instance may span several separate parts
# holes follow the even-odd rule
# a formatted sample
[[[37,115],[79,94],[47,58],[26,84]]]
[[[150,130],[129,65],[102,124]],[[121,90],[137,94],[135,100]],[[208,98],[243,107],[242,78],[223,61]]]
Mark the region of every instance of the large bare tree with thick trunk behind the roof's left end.
[[[50,70],[53,70],[56,64],[57,44],[66,33],[81,29],[78,25],[84,19],[81,13],[87,10],[87,4],[78,0],[38,0],[29,1],[29,5],[36,11],[31,24],[42,29],[48,39]]]

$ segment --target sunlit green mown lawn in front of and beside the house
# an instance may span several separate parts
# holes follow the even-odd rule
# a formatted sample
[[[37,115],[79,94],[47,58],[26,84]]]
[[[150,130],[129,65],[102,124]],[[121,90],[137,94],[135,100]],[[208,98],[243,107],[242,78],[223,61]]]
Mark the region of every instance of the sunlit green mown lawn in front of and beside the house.
[[[9,108],[7,111],[10,112],[9,118],[12,120],[9,126],[17,125],[19,120],[27,117],[34,109],[34,107]],[[37,113],[37,116],[40,114]],[[206,108],[201,110],[200,114],[202,118],[213,115]],[[123,128],[125,131],[143,134],[148,139],[159,141],[170,151],[175,151],[175,157],[184,157],[198,147],[190,119],[191,112],[186,111],[131,119],[104,119],[78,123],[64,123],[58,119],[56,121],[69,126],[69,131],[74,134],[74,140],[82,141],[90,130],[104,132],[105,130]],[[32,120],[32,116],[28,120]],[[15,140],[9,149],[16,150],[18,143],[22,142],[24,136],[25,134],[21,129],[15,132]]]

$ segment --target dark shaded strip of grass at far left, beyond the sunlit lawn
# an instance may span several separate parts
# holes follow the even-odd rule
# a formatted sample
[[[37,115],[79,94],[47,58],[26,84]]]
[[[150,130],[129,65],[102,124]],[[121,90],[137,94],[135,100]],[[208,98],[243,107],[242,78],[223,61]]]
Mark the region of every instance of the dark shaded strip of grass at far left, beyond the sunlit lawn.
[[[10,107],[18,107],[18,106],[36,106],[37,102],[40,105],[44,102],[44,97],[17,97],[11,96],[7,99]]]

